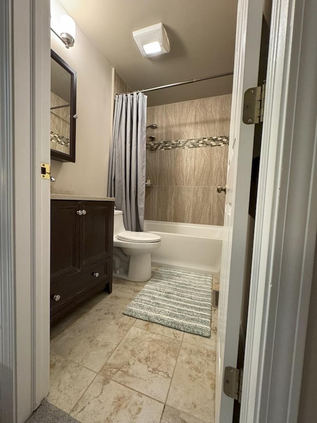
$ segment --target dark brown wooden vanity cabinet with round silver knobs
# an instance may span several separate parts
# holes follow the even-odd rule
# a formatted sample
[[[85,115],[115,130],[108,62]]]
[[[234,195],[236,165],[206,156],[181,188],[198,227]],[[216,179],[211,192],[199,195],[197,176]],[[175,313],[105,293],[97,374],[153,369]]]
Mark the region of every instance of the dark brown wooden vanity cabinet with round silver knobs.
[[[112,291],[113,201],[51,200],[51,324]]]

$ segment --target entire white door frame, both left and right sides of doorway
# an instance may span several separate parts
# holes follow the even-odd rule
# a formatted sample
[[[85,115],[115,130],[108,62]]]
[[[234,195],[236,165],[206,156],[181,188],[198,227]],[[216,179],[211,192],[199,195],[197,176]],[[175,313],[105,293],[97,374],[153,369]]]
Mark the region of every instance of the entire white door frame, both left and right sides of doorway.
[[[273,0],[241,411],[241,421],[250,423],[297,422],[317,234],[316,5],[304,6]],[[7,394],[6,421],[22,423],[49,390],[50,190],[39,178],[41,160],[50,162],[49,1],[3,0],[2,11],[0,352],[9,372],[2,365],[0,401]],[[306,57],[315,68],[303,69]],[[305,205],[304,219],[294,204]],[[300,259],[289,248],[295,235]],[[283,343],[273,343],[279,336]]]

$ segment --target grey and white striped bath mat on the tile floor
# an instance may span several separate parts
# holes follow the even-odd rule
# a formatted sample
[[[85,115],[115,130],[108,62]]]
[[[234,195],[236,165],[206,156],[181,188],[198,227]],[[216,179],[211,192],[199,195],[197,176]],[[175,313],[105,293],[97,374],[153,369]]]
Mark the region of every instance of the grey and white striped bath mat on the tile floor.
[[[123,314],[210,338],[211,297],[211,275],[161,267]]]

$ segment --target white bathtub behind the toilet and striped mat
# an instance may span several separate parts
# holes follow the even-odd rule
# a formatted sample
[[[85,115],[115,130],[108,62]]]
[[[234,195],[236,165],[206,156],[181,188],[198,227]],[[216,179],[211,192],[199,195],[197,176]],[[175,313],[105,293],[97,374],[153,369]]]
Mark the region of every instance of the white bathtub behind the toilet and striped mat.
[[[153,266],[220,272],[222,226],[145,220],[144,231],[161,237],[161,246],[151,254]]]

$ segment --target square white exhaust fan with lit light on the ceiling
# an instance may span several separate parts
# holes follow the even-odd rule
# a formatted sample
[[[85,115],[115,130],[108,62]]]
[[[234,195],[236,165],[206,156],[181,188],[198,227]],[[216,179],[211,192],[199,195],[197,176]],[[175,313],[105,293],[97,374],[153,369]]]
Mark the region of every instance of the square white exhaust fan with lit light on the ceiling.
[[[163,55],[170,51],[166,30],[161,22],[133,31],[133,38],[145,58]]]

